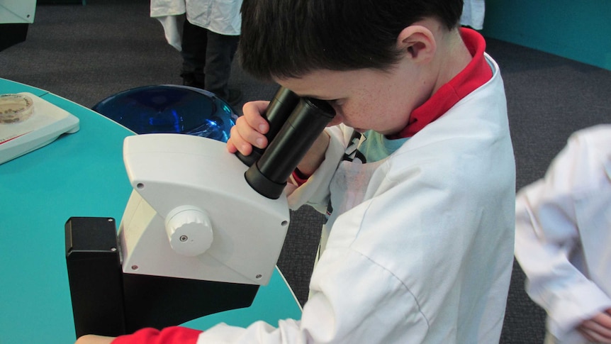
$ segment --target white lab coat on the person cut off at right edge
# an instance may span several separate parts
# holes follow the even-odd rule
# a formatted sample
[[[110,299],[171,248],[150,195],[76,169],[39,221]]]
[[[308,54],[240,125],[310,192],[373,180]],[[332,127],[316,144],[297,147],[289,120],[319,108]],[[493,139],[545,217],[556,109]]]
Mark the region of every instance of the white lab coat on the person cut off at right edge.
[[[549,342],[588,343],[575,327],[611,308],[611,125],[573,133],[515,211],[515,256]]]

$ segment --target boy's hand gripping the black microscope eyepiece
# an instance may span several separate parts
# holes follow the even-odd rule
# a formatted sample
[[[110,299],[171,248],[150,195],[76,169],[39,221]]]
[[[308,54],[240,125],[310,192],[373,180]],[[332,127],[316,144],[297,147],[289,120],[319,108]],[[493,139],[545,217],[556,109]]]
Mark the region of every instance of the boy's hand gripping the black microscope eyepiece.
[[[240,151],[242,155],[250,155],[252,146],[267,147],[265,133],[269,131],[269,123],[261,114],[267,109],[269,101],[250,101],[244,104],[240,116],[231,128],[230,138],[227,141],[227,150],[231,153]]]

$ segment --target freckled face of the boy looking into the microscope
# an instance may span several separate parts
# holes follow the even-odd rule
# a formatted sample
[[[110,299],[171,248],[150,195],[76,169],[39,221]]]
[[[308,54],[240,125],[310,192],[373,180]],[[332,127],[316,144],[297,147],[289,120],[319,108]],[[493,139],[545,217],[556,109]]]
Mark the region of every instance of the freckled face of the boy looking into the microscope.
[[[405,128],[412,110],[427,98],[419,95],[426,85],[401,64],[388,72],[318,70],[276,82],[300,96],[329,101],[337,113],[330,126],[344,123],[359,132],[371,129],[384,135]]]

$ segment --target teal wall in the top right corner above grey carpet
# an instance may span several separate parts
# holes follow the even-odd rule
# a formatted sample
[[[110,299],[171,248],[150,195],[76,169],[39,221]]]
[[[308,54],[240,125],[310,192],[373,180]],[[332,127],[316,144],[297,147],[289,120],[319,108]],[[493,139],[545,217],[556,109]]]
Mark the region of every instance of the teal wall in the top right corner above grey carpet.
[[[486,0],[481,32],[611,70],[611,0]]]

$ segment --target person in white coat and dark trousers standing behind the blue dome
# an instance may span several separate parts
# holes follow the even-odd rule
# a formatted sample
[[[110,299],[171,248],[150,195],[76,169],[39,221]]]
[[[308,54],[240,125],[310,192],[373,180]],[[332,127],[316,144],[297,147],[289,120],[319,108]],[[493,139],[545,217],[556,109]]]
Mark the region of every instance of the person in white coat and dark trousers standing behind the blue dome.
[[[181,52],[183,84],[213,92],[232,105],[242,92],[229,87],[240,39],[242,0],[151,0],[150,16],[164,27],[167,41]],[[177,16],[185,15],[182,31]]]

